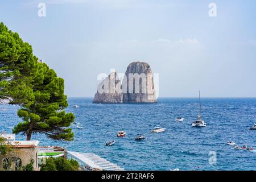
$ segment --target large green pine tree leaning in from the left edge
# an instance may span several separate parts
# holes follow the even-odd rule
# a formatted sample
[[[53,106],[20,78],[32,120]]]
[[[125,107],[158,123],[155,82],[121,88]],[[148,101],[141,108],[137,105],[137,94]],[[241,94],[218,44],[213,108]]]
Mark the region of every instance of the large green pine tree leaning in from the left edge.
[[[47,64],[38,62],[32,47],[0,23],[0,98],[11,98],[18,104],[18,123],[13,133],[23,133],[27,140],[42,133],[56,140],[74,138],[69,127],[73,113],[65,113],[68,106],[64,94],[64,80],[57,77]]]

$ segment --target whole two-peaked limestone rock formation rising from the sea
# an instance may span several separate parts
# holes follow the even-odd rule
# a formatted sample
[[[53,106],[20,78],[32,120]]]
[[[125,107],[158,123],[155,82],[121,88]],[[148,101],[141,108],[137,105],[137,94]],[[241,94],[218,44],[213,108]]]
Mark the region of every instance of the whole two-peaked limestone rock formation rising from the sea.
[[[155,103],[155,87],[150,65],[133,62],[126,69],[122,83],[116,72],[99,85],[93,103]]]

